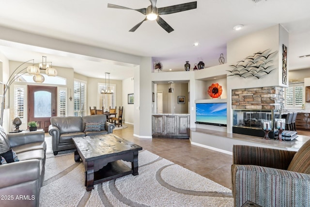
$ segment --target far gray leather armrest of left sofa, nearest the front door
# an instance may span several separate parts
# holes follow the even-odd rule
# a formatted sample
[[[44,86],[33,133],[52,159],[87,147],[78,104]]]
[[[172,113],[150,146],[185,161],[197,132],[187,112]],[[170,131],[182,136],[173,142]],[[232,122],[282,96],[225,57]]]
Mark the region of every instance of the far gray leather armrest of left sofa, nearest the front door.
[[[8,134],[10,147],[27,143],[44,142],[44,131],[30,131]]]

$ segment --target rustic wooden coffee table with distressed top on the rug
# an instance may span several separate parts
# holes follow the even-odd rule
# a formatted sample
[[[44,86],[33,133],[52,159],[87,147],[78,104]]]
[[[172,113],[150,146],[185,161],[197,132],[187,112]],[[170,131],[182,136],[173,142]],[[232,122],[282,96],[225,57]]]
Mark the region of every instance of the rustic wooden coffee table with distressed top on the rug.
[[[124,175],[138,175],[138,152],[142,147],[114,134],[75,137],[75,161],[82,159],[87,191],[93,185]],[[131,168],[122,161],[131,162]]]

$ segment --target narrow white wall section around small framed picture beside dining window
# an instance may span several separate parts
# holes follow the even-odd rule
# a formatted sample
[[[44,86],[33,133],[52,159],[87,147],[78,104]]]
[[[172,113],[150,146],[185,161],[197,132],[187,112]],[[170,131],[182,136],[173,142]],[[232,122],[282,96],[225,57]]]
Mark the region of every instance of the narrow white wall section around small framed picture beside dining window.
[[[134,94],[134,78],[123,80],[123,121],[134,124],[134,104],[128,104],[128,94]]]

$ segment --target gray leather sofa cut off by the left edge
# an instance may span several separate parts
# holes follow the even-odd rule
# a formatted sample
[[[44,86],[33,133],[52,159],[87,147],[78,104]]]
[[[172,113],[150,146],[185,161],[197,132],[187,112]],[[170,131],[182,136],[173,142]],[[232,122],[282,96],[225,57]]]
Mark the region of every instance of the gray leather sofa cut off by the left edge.
[[[6,134],[0,126],[0,154],[10,149],[19,161],[0,164],[0,206],[38,207],[45,174],[44,131]]]

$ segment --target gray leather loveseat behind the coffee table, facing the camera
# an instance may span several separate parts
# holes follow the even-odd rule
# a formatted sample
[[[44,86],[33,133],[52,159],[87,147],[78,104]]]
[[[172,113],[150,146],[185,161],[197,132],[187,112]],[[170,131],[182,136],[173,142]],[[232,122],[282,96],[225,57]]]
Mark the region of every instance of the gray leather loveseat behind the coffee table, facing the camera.
[[[53,116],[50,119],[51,125],[48,127],[48,133],[52,136],[52,149],[54,155],[59,151],[75,149],[72,138],[84,137],[97,134],[112,133],[115,125],[107,122],[105,114],[89,116]],[[87,123],[104,123],[104,129],[99,131],[87,131]]]

